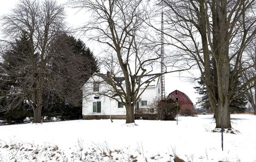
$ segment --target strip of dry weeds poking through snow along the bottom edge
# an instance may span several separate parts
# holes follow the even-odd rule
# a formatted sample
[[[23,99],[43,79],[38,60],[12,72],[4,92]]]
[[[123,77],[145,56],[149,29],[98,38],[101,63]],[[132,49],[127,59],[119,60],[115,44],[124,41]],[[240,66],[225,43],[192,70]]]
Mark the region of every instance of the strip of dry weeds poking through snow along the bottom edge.
[[[58,146],[36,146],[31,143],[0,143],[0,161],[149,162],[159,160],[160,157],[160,155],[154,158],[144,157],[140,151],[131,153],[126,149],[110,150],[103,144],[95,144],[94,147],[87,149],[81,149],[81,147],[83,148],[81,145],[79,147],[80,148],[77,150],[66,152],[65,150],[61,150]]]

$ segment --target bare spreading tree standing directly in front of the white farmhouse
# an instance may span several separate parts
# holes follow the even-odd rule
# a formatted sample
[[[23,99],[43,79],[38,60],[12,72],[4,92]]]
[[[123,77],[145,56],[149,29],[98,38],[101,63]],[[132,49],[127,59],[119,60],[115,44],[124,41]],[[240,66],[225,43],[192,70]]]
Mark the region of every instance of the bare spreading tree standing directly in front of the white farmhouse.
[[[159,48],[149,41],[150,29],[145,23],[148,19],[147,1],[83,0],[70,1],[70,4],[92,12],[93,19],[81,31],[91,32],[90,39],[98,41],[105,49],[105,57],[102,57],[100,64],[110,72],[109,77],[100,73],[96,75],[110,88],[97,95],[108,96],[123,104],[126,108],[126,123],[134,123],[136,101],[149,83],[162,75],[149,75],[160,61],[160,54]],[[189,68],[189,65],[181,66],[164,73]],[[147,79],[143,79],[144,76]]]

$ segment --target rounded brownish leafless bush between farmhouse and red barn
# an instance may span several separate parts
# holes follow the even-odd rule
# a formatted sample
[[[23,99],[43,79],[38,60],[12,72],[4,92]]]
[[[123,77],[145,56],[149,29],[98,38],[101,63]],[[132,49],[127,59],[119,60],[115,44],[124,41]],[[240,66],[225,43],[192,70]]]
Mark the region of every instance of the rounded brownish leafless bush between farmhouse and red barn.
[[[158,101],[157,104],[157,118],[158,120],[171,120],[174,121],[175,116],[177,115],[177,107],[178,111],[180,106],[176,101],[171,98],[165,98]]]

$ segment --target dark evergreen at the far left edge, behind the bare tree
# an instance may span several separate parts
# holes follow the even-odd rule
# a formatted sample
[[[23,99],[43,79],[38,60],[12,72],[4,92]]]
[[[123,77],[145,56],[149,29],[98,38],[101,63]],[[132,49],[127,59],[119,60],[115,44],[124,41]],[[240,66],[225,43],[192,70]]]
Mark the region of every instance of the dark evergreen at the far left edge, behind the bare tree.
[[[23,32],[12,44],[11,49],[2,55],[3,62],[0,63],[0,117],[7,120],[8,123],[22,123],[32,113],[26,100],[20,99],[23,94],[15,97],[6,95],[10,91],[17,93],[21,91],[21,88],[28,88],[22,83],[23,79],[28,77],[28,68],[25,66],[27,50],[29,50],[29,41]],[[25,68],[20,68],[21,66]],[[12,105],[14,109],[7,112],[9,105]]]

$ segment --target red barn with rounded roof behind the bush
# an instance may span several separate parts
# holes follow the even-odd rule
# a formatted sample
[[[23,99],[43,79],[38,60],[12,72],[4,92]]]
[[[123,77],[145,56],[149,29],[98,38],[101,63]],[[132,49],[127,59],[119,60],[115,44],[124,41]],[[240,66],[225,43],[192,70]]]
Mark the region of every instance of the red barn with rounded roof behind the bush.
[[[181,91],[175,90],[175,91],[171,92],[167,98],[171,98],[173,100],[177,100],[177,98],[178,98],[178,103],[179,103],[181,109],[193,110],[192,101],[189,99],[189,97],[185,93],[183,93]]]

